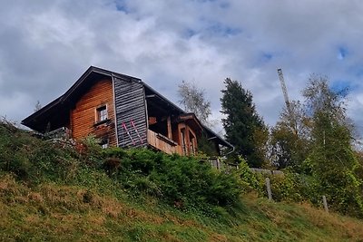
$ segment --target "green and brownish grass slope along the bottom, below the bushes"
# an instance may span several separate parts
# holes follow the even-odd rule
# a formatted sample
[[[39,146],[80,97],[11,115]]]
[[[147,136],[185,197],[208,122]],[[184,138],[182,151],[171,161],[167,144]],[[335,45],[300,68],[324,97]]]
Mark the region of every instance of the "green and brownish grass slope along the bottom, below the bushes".
[[[104,182],[104,181],[103,181]],[[112,180],[110,179],[110,183]],[[0,176],[1,241],[362,241],[363,221],[244,195],[215,218],[155,198]],[[141,202],[143,201],[143,202]],[[227,208],[226,208],[227,209]]]

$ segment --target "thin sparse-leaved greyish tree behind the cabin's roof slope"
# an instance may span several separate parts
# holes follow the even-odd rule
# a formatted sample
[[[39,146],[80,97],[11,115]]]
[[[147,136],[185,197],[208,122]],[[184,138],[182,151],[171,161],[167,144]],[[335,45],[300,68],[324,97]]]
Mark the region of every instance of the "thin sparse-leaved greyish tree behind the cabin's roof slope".
[[[182,81],[178,86],[179,101],[185,111],[192,112],[197,118],[206,124],[211,124],[211,102],[205,99],[205,91],[198,88],[194,83]]]

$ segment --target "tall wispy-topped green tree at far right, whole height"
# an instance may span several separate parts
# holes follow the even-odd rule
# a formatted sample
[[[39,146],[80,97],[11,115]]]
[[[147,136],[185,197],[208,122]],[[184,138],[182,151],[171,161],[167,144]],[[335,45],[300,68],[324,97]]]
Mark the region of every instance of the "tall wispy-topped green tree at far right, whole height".
[[[347,90],[329,88],[327,77],[311,75],[303,90],[312,120],[312,150],[307,162],[312,175],[319,179],[322,194],[332,208],[363,216],[359,163],[352,148],[352,125],[346,114]]]

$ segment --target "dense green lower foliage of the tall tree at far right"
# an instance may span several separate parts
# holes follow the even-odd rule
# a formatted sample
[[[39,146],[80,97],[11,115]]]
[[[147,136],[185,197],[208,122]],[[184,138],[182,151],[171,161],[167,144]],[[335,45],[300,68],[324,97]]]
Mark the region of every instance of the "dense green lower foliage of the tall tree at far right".
[[[320,112],[315,115],[314,148],[309,156],[312,173],[332,207],[363,216],[361,179],[355,174],[358,160],[350,146],[348,129]]]

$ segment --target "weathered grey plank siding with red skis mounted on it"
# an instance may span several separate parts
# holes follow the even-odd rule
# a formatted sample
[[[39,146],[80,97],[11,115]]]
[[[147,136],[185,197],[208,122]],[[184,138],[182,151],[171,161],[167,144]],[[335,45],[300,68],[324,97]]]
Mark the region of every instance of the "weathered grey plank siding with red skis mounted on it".
[[[147,119],[142,82],[115,77],[113,86],[119,146],[146,146]]]

